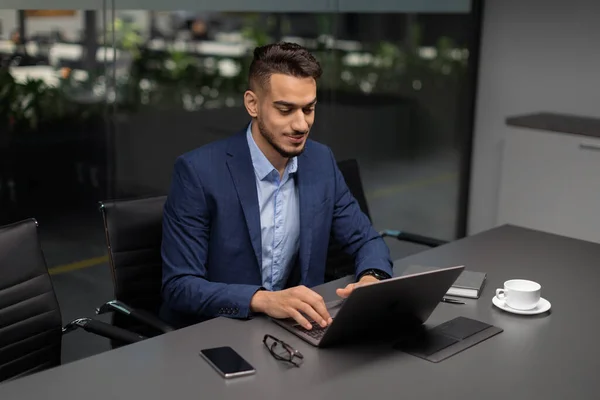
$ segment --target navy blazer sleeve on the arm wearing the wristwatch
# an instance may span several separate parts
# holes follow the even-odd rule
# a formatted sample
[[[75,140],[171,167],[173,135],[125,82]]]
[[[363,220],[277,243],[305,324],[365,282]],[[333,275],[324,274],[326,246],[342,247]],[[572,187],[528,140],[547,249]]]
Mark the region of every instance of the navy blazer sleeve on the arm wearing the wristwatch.
[[[383,238],[375,231],[371,221],[346,185],[335,157],[329,150],[334,169],[334,205],[332,234],[342,250],[355,258],[355,276],[367,269],[378,269],[393,276],[390,251]]]

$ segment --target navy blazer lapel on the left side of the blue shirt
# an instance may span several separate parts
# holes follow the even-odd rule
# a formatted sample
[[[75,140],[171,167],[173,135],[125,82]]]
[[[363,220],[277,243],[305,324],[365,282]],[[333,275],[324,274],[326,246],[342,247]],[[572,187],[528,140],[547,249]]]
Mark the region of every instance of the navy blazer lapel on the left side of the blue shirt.
[[[258,207],[258,194],[256,191],[256,177],[252,167],[252,158],[246,141],[245,131],[232,138],[227,154],[227,166],[235,189],[237,191],[246,226],[250,233],[252,248],[256,256],[258,266],[262,265],[262,241],[260,235],[260,210]]]

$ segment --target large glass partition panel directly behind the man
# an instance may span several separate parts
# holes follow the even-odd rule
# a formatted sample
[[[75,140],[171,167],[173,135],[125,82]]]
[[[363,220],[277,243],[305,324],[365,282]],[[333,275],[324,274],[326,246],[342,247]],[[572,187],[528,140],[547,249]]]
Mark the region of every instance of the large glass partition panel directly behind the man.
[[[365,9],[365,2],[336,0],[241,10],[154,2],[149,10],[116,3],[116,22],[131,35],[119,45],[133,55],[114,116],[119,196],[165,193],[177,155],[244,127],[252,49],[285,40],[308,47],[323,65],[312,138],[338,160],[358,160],[375,227],[461,235],[469,7],[428,10],[435,2],[413,2],[423,9],[411,10],[411,2],[380,1],[380,9]]]

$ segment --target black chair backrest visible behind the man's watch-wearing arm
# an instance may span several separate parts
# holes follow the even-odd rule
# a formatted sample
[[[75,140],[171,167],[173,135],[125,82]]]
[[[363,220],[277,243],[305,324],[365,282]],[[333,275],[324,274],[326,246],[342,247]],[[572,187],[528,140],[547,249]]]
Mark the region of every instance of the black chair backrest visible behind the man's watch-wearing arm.
[[[352,196],[354,196],[358,202],[362,212],[364,212],[370,220],[371,215],[369,213],[367,198],[360,177],[358,162],[355,159],[350,159],[339,161],[337,165],[346,181],[348,190],[350,190],[350,193],[352,193]],[[327,250],[325,281],[329,282],[352,274],[354,274],[354,257],[346,254],[341,246],[333,240],[333,237],[331,237]]]

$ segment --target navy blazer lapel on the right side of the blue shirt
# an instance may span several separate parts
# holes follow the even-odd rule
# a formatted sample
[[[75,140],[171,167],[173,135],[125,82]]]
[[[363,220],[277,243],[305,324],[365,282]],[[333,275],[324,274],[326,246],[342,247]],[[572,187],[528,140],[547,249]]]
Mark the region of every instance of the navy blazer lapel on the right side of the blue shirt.
[[[296,173],[300,201],[300,249],[298,257],[302,284],[307,283],[312,250],[312,224],[315,199],[317,198],[313,176],[310,161],[306,152],[304,152],[298,157],[298,172]]]

